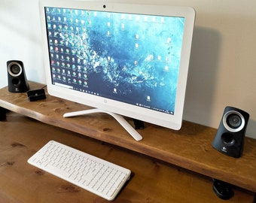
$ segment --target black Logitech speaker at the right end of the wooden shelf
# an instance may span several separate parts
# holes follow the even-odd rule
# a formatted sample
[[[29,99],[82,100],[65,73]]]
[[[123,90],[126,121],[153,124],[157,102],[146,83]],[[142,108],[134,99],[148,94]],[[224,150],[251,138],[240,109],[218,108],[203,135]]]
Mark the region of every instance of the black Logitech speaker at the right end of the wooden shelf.
[[[242,155],[249,114],[238,108],[226,107],[212,147],[227,156]]]

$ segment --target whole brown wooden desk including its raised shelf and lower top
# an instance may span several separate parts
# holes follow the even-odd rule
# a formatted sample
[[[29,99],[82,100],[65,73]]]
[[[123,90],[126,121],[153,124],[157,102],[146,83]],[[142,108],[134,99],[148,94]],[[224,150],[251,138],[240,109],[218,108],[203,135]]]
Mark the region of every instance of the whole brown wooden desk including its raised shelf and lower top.
[[[106,202],[26,162],[50,140],[130,168],[133,177],[114,202],[223,202],[210,177],[236,185],[228,202],[254,201],[254,139],[246,138],[243,156],[234,159],[212,149],[216,129],[194,123],[178,132],[146,123],[136,142],[105,114],[62,118],[87,107],[50,95],[29,102],[26,93],[3,88],[0,106],[12,111],[0,122],[0,202]]]

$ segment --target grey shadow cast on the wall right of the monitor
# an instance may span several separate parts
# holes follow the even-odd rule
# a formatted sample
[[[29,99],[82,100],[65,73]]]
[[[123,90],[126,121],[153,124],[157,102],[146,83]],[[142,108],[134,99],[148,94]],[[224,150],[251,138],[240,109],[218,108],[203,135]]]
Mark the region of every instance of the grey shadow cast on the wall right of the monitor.
[[[184,120],[209,126],[218,82],[221,35],[214,29],[195,26],[187,76]]]

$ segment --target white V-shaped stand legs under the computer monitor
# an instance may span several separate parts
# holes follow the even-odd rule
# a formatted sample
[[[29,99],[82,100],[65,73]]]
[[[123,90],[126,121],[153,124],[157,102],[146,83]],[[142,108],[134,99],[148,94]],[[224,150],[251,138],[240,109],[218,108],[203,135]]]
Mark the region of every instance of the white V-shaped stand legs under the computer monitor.
[[[123,126],[124,129],[126,129],[127,132],[136,140],[136,141],[141,141],[142,140],[142,135],[139,135],[139,132],[136,131],[136,129],[133,129],[133,126],[130,125],[124,118],[118,114],[114,114],[109,111],[104,111],[99,108],[93,108],[89,110],[84,110],[84,111],[75,111],[75,112],[70,112],[66,113],[63,115],[63,117],[76,117],[76,116],[81,116],[81,115],[86,115],[86,114],[97,114],[97,113],[105,113],[111,115],[111,117],[114,117],[115,120],[117,120],[118,123],[120,123],[121,126]]]

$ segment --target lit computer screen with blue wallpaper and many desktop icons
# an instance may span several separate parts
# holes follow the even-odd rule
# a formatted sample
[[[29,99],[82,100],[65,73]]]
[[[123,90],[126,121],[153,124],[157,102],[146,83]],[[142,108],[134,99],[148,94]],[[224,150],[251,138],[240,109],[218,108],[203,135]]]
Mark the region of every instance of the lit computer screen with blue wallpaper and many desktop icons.
[[[174,114],[184,18],[45,8],[52,81]]]

